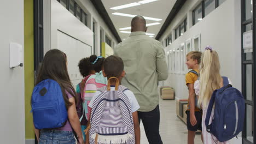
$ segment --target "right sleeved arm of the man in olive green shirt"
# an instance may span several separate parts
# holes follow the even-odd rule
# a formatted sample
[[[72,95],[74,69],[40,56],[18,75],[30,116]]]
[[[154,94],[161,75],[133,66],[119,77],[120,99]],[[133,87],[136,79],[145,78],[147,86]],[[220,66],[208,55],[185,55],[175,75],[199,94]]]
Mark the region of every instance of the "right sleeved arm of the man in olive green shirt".
[[[158,52],[156,54],[156,72],[158,73],[158,81],[164,81],[168,78],[165,51],[160,43],[156,46],[158,46]]]

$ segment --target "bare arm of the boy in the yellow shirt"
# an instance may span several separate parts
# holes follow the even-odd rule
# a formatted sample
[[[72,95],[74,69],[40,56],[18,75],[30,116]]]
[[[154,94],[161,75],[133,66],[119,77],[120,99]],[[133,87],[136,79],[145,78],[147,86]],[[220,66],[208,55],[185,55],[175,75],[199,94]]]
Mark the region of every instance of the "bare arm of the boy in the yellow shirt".
[[[194,84],[188,83],[189,89],[189,106],[190,106],[190,123],[192,126],[196,125],[196,118],[195,118],[195,90]]]

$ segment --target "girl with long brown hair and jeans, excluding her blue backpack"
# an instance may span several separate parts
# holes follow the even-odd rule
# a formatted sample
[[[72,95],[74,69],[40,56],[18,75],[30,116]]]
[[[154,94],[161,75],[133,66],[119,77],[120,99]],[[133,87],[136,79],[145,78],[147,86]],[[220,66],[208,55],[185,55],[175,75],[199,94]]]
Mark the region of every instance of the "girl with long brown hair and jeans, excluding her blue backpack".
[[[68,120],[59,129],[35,129],[37,140],[39,143],[75,143],[74,130],[78,136],[78,142],[83,143],[82,130],[75,109],[77,97],[67,71],[67,56],[62,51],[50,50],[46,52],[36,85],[46,79],[52,79],[59,83],[67,109]]]

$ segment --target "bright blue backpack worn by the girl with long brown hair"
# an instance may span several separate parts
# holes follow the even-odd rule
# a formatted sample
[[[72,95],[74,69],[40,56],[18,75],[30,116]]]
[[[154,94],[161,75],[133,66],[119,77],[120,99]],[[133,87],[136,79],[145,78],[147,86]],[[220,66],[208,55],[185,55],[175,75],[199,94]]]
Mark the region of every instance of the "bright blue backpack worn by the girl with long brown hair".
[[[61,87],[54,80],[43,80],[34,87],[31,106],[36,129],[61,128],[67,122],[67,109]]]

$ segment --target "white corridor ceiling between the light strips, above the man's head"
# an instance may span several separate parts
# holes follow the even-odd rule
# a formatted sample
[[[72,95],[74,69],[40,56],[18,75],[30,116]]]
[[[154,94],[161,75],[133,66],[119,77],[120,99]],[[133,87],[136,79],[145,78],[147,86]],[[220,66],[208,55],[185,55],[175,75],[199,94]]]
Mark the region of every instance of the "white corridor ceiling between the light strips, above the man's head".
[[[117,29],[117,32],[118,32],[121,40],[124,40],[125,38],[129,37],[129,33],[120,33],[120,31],[129,31],[130,32],[131,29],[119,30],[119,28],[130,27],[132,17],[113,15],[112,13],[142,15],[142,16],[162,19],[161,21],[146,20],[147,23],[160,22],[159,25],[148,26],[147,33],[153,33],[154,34],[153,38],[155,38],[156,35],[158,34],[158,32],[160,31],[162,24],[165,22],[168,14],[172,10],[173,5],[176,2],[176,0],[158,0],[155,2],[151,2],[151,3],[137,5],[135,7],[113,10],[110,8],[117,7],[117,6],[123,5],[123,4],[138,2],[141,0],[121,0],[121,1],[120,0],[101,0],[101,1],[104,5],[105,9],[107,10],[107,13],[108,13],[110,19],[113,22],[115,29]]]

